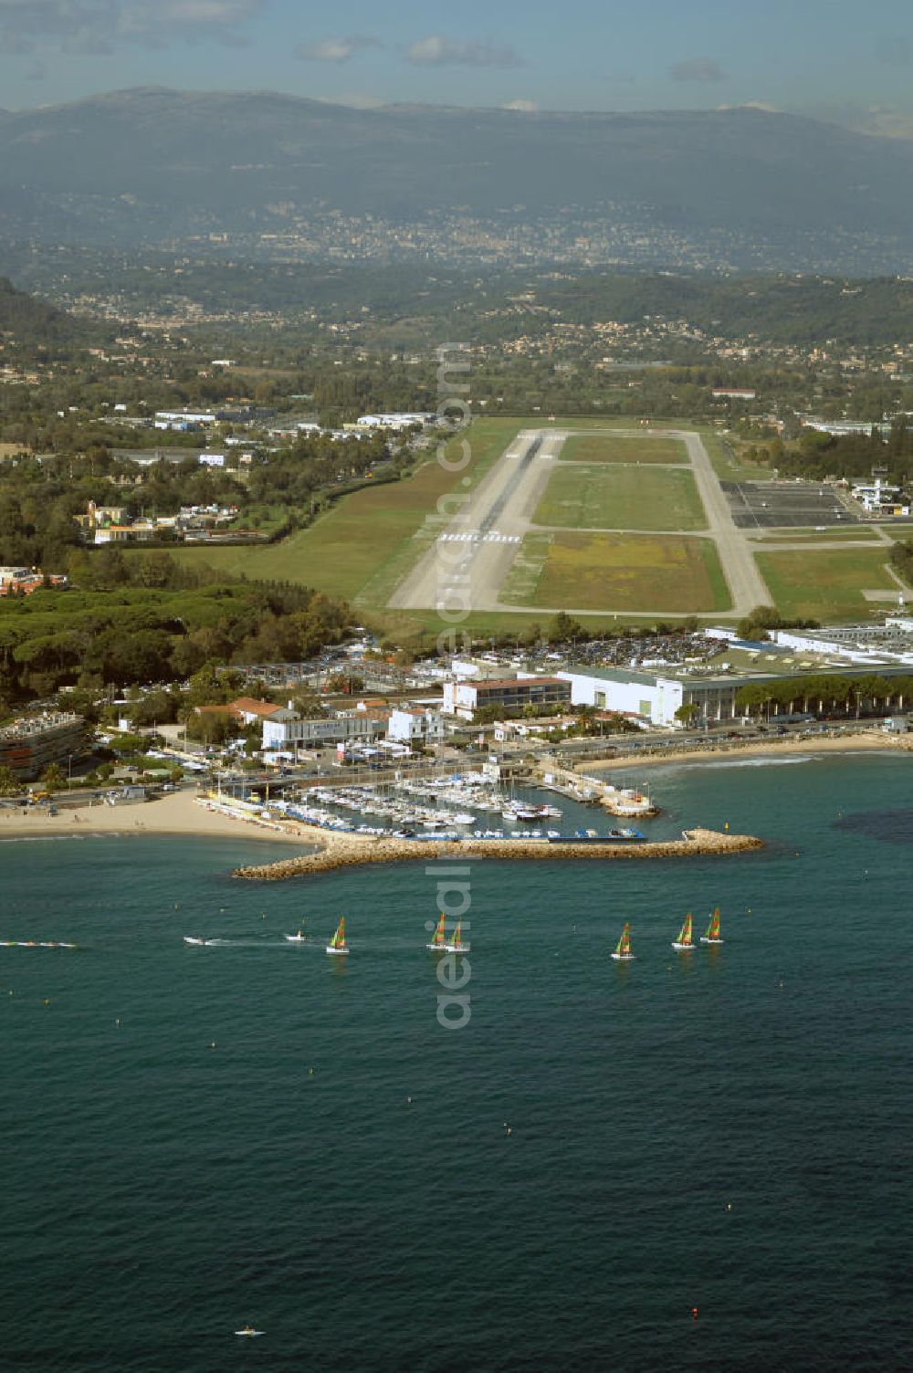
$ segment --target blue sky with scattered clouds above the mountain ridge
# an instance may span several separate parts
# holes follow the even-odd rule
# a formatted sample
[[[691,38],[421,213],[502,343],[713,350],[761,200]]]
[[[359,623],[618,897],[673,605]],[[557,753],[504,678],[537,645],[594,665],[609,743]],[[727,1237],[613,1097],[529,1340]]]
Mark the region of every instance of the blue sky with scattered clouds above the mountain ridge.
[[[912,0],[0,0],[0,107],[137,85],[343,104],[762,104],[913,137]]]

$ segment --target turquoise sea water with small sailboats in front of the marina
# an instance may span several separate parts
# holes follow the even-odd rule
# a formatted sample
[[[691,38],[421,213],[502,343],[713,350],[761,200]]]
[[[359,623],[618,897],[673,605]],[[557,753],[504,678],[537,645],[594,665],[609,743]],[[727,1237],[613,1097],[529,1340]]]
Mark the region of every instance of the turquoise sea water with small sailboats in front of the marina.
[[[459,1031],[421,866],[0,844],[0,936],[82,946],[0,949],[1,1366],[909,1368],[912,780],[655,769],[671,828],[770,847],[474,862]]]

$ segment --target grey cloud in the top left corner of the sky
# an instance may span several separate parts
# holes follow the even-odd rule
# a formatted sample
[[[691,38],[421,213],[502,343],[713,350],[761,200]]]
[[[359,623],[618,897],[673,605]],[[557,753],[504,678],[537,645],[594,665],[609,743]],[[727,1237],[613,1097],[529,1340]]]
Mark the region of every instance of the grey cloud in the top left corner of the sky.
[[[0,51],[114,52],[125,44],[242,43],[272,0],[0,0]]]

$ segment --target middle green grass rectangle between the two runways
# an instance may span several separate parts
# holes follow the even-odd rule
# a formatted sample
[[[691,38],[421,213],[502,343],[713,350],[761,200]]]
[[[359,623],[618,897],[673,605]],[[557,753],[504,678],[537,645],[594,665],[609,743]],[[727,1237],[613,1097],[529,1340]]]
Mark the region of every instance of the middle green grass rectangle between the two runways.
[[[707,516],[689,470],[568,464],[552,474],[534,523],[675,533],[706,529]]]

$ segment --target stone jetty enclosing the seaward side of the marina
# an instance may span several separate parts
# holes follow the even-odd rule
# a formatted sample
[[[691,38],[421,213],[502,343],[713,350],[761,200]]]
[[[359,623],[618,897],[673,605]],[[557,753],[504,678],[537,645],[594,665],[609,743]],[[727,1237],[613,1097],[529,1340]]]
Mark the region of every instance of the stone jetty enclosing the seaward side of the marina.
[[[551,843],[548,839],[395,839],[383,835],[328,833],[323,829],[299,827],[314,853],[255,868],[236,868],[232,876],[255,881],[283,881],[338,868],[360,868],[372,862],[428,862],[450,858],[468,862],[478,858],[544,859],[545,862],[573,859],[641,859],[726,857],[763,849],[763,840],[751,835],[724,835],[715,829],[685,829],[681,839],[647,840],[644,843]]]

